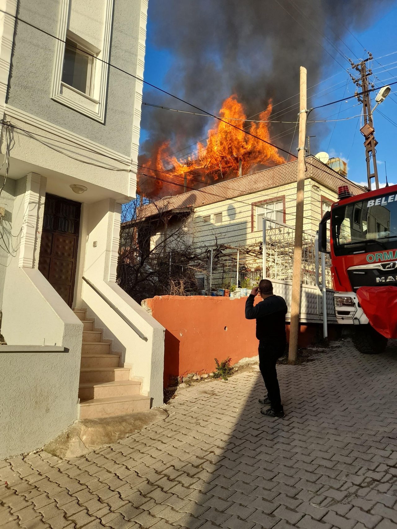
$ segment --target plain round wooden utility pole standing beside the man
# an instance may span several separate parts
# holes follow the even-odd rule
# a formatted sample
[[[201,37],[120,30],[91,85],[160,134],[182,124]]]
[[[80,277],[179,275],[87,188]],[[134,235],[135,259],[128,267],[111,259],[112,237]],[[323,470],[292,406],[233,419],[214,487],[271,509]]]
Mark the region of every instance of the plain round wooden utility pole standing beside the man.
[[[300,105],[299,105],[299,142],[298,142],[298,167],[296,181],[296,217],[295,217],[295,244],[294,263],[292,272],[292,300],[291,300],[291,325],[290,349],[288,363],[296,360],[297,340],[299,335],[299,313],[301,308],[301,269],[302,269],[302,239],[303,239],[303,200],[305,185],[305,142],[306,142],[306,68],[300,70]]]

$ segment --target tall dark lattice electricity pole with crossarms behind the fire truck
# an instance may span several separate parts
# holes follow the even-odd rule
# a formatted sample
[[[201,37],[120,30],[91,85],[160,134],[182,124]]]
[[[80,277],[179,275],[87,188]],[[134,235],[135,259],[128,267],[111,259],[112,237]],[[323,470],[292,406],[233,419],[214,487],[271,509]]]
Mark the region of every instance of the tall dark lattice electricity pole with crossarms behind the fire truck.
[[[364,125],[361,127],[360,132],[363,134],[365,141],[365,158],[367,162],[367,178],[368,178],[368,187],[371,189],[372,180],[375,181],[375,189],[379,189],[378,181],[378,168],[376,165],[376,145],[377,141],[374,136],[374,123],[372,121],[372,110],[371,110],[371,97],[369,96],[368,88],[368,76],[372,74],[371,70],[367,70],[366,62],[372,60],[372,54],[369,53],[368,59],[358,62],[355,64],[351,62],[351,66],[355,68],[360,77],[356,79],[350,74],[350,77],[353,79],[355,85],[362,89],[362,96],[357,95],[357,101],[363,103],[363,117]],[[374,85],[372,85],[372,88]],[[356,92],[357,94],[357,92]],[[372,163],[371,163],[372,162]],[[372,166],[372,167],[371,167]]]

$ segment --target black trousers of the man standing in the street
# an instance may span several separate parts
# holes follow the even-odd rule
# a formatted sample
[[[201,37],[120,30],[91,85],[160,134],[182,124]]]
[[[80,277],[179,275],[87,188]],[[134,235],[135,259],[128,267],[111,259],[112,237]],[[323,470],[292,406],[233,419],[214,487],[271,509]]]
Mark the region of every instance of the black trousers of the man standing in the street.
[[[284,354],[286,342],[259,342],[259,370],[267,389],[267,396],[272,408],[279,412],[281,405],[280,388],[278,386],[276,362]]]

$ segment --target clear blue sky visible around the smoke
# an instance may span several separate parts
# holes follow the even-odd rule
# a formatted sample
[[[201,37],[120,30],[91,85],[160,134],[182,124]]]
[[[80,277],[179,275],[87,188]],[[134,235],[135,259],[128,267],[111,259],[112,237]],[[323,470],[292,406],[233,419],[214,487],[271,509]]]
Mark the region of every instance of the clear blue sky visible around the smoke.
[[[371,51],[374,59],[378,59],[379,62],[390,71],[386,72],[375,60],[372,63],[372,69],[374,74],[381,80],[375,79],[375,86],[382,86],[383,84],[393,83],[397,81],[397,40],[394,38],[395,27],[397,25],[397,1],[393,4],[391,10],[389,10],[381,19],[377,20],[374,24],[369,24],[367,29],[362,32],[356,32],[355,35],[347,33],[344,37],[344,42],[347,46],[356,54],[358,58],[366,58],[367,55],[357,40],[364,45],[364,47]],[[145,59],[145,80],[153,83],[157,86],[167,88],[164,82],[164,77],[172,63],[172,57],[166,50],[160,50],[154,47],[152,44],[152,25],[150,17],[148,20],[148,33],[147,33],[147,48],[146,48],[146,59]],[[355,39],[356,37],[356,39]],[[315,35],[318,38],[318,35]],[[344,51],[347,56],[351,56],[344,43],[336,41],[337,46]],[[330,52],[345,68],[349,67],[346,60],[342,59],[339,53],[332,48],[329,48]],[[393,53],[394,52],[394,53]],[[386,56],[387,57],[384,57]],[[356,57],[352,57],[354,60]],[[297,65],[299,68],[300,65]],[[304,65],[303,65],[304,66]],[[395,76],[395,78],[394,78]],[[309,106],[322,105],[331,101],[335,101],[340,98],[349,97],[354,94],[355,86],[348,79],[349,76],[337,62],[333,61],[327,56],[327,61],[324,62],[324,68],[321,79],[323,83],[308,90],[308,97],[324,90],[322,94],[318,94],[312,99],[309,99]],[[383,82],[385,80],[385,83]],[[310,72],[308,71],[308,86],[310,86]],[[299,87],[293,92],[291,88],[291,95],[298,92]],[[373,101],[375,94],[373,94]],[[144,97],[145,101],[145,97]],[[295,102],[295,99],[292,100]],[[193,102],[194,103],[194,102]],[[276,101],[274,101],[276,103]],[[356,106],[354,106],[356,105]],[[175,101],[175,108],[181,108],[179,102]],[[184,107],[185,108],[185,107]],[[258,109],[260,111],[262,109]],[[389,117],[390,123],[387,121],[381,113]],[[340,112],[339,112],[340,111]],[[319,114],[315,115],[315,118],[342,118],[357,116],[362,111],[362,105],[357,105],[355,99],[349,99],[342,103],[328,106],[320,111]],[[159,112],[167,112],[159,110]],[[314,111],[311,114],[313,117]],[[204,119],[198,117],[197,119]],[[209,120],[209,125],[212,122]],[[346,121],[330,122],[328,126],[318,127],[317,125],[310,125],[308,127],[308,134],[315,134],[317,136],[317,148],[319,151],[327,151],[330,156],[339,156],[348,161],[348,178],[358,183],[366,184],[366,163],[365,163],[365,150],[363,145],[363,136],[359,131],[360,118],[351,118]],[[396,170],[396,138],[397,138],[397,84],[392,86],[392,94],[378,107],[374,112],[374,125],[375,125],[375,136],[378,141],[376,156],[378,162],[378,173],[380,183],[385,183],[385,165],[387,166],[387,177],[389,184],[397,183],[397,170]],[[335,126],[335,128],[334,128]],[[313,127],[316,127],[314,129]],[[272,130],[272,134],[276,134],[275,129]],[[150,131],[141,131],[141,142],[148,138]],[[290,136],[292,138],[292,136]],[[276,140],[274,140],[277,143]],[[312,152],[315,154],[315,152]]]

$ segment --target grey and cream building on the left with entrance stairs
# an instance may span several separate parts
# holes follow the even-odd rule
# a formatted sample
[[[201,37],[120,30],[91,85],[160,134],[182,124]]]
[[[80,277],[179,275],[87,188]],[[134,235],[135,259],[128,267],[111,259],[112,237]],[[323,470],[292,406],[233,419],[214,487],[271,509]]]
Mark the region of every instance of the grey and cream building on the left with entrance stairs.
[[[79,416],[161,404],[164,330],[115,283],[121,206],[136,196],[147,0],[0,4],[2,457]],[[127,394],[97,391],[117,380]]]

